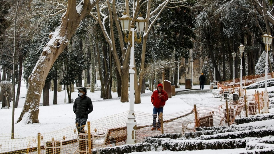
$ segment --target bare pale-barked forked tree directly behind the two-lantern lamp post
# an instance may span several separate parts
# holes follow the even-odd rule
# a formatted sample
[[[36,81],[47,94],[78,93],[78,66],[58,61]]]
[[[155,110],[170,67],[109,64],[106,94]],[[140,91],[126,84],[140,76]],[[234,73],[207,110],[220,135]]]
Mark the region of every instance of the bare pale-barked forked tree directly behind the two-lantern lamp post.
[[[145,53],[146,53],[146,40],[148,39],[148,33],[153,29],[154,24],[156,23],[157,19],[160,17],[162,11],[167,7],[169,3],[176,3],[177,6],[186,5],[185,0],[181,1],[172,1],[172,0],[165,0],[165,1],[142,1],[137,0],[134,8],[134,12],[132,15],[132,21],[131,25],[134,25],[135,19],[137,17],[138,12],[140,11],[140,8],[142,5],[146,7],[146,26],[143,34],[143,46],[142,46],[142,56],[141,56],[141,64],[139,68],[139,72],[137,74],[137,69],[135,70],[135,78],[134,78],[134,90],[135,90],[135,103],[138,104],[141,102],[141,88],[142,88],[142,82],[143,82],[143,71],[144,71],[144,62],[145,62]],[[129,9],[129,1],[125,1],[125,8],[126,8],[126,14],[130,16],[130,9]],[[130,47],[131,44],[128,42],[127,47],[124,46],[124,40],[123,40],[123,33],[120,28],[119,20],[118,20],[118,12],[116,10],[116,2],[115,0],[112,1],[112,5],[110,5],[109,1],[106,1],[106,3],[102,4],[102,8],[99,8],[99,5],[96,5],[97,8],[97,16],[95,14],[92,14],[94,19],[96,19],[104,33],[104,36],[108,42],[108,45],[112,49],[112,54],[114,58],[114,62],[116,64],[116,68],[118,70],[118,73],[121,77],[122,82],[122,89],[121,89],[121,102],[128,102],[128,70],[129,70],[129,59],[130,59]],[[153,8],[151,6],[154,6]],[[103,11],[106,9],[107,11]],[[107,14],[108,13],[108,14]],[[101,18],[102,17],[102,18]],[[109,18],[109,33],[106,31],[106,19]],[[114,42],[114,31],[113,31],[113,23],[117,27],[118,31],[118,39],[119,39],[119,47],[122,51],[122,61],[120,61],[120,57],[118,56],[118,52],[116,50],[116,44]],[[126,34],[124,34],[126,35]],[[135,64],[136,66],[136,64]]]

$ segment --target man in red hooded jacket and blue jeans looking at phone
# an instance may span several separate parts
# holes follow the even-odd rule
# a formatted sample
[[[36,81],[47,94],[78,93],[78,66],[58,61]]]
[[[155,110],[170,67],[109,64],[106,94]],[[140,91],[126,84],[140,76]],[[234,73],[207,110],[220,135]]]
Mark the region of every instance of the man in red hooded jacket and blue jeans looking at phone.
[[[151,103],[153,104],[153,127],[151,130],[161,130],[160,123],[160,112],[164,111],[164,105],[166,104],[166,100],[168,100],[168,94],[163,90],[163,85],[158,84],[157,90],[151,95]],[[158,122],[156,123],[156,118],[158,115]]]

